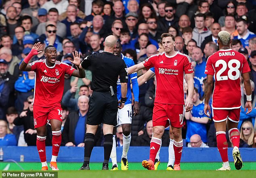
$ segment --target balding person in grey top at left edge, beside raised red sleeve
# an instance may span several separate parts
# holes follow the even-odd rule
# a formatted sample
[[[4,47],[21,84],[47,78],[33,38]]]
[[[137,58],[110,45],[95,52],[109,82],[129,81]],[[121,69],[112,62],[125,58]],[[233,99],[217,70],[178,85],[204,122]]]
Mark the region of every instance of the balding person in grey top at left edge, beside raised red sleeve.
[[[17,79],[19,77],[19,63],[21,59],[13,55],[12,50],[7,47],[0,49],[0,59],[6,60],[8,63],[8,72]]]

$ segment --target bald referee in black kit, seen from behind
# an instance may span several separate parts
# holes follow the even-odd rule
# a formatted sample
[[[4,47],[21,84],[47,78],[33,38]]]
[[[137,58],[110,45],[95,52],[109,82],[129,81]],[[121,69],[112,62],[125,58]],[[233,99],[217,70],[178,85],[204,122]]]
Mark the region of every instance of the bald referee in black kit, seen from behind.
[[[103,53],[94,53],[84,58],[80,68],[92,68],[92,96],[84,139],[84,164],[80,170],[90,170],[89,162],[94,146],[94,135],[99,124],[103,123],[104,162],[102,170],[108,170],[109,157],[113,145],[113,126],[117,125],[118,108],[123,108],[126,102],[128,75],[126,64],[120,57],[113,55],[117,39],[110,35],[106,37]],[[118,106],[117,81],[121,82],[122,99]]]

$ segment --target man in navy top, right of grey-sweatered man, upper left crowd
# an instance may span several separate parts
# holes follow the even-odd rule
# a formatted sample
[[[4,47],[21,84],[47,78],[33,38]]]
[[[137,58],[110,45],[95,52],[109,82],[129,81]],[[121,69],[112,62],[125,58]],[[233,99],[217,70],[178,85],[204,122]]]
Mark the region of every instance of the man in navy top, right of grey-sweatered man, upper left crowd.
[[[73,5],[73,4],[69,4],[67,6],[67,17],[61,21],[61,23],[64,23],[66,25],[66,37],[70,37],[71,36],[71,32],[70,32],[70,25],[71,23],[80,23],[83,21],[82,18],[78,17],[78,8]]]

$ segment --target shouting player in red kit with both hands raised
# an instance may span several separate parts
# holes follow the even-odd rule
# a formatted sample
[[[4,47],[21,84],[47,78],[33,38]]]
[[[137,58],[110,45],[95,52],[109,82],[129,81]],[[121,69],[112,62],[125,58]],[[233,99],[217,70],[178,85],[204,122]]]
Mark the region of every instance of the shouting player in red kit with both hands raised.
[[[61,124],[62,124],[62,108],[61,98],[64,90],[64,75],[85,78],[85,72],[79,68],[80,54],[78,51],[73,53],[74,65],[78,67],[75,70],[66,63],[56,61],[57,50],[54,46],[48,45],[44,49],[44,56],[46,59],[41,59],[29,63],[29,60],[38,55],[42,51],[41,44],[36,43],[31,49],[30,53],[25,57],[19,66],[21,71],[35,71],[35,91],[34,91],[34,125],[37,131],[36,146],[39,157],[42,162],[42,170],[48,170],[46,163],[46,125],[49,122],[52,127],[52,159],[50,161],[50,168],[52,170],[59,170],[57,167],[57,156],[61,145]]]

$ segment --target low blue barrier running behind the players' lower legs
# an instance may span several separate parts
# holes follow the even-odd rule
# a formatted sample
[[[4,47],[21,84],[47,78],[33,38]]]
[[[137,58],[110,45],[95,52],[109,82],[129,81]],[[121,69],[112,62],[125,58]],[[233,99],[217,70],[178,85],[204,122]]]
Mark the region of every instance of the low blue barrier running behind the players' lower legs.
[[[35,146],[17,147],[2,146],[4,161],[14,160],[16,162],[40,162],[38,151]],[[243,162],[256,162],[256,148],[240,148]],[[46,158],[51,159],[52,147],[46,147]],[[121,158],[122,147],[117,147],[117,158]],[[232,161],[232,148],[228,148],[229,160]],[[141,162],[149,159],[149,147],[130,147],[128,151],[129,162]],[[90,162],[103,162],[103,147],[94,147]],[[118,159],[119,160],[119,159]],[[168,147],[161,147],[161,162],[168,162]],[[58,162],[83,162],[83,147],[60,148]],[[183,147],[181,162],[221,162],[217,148],[188,148]]]

